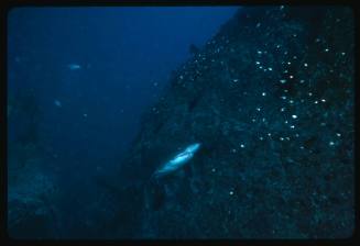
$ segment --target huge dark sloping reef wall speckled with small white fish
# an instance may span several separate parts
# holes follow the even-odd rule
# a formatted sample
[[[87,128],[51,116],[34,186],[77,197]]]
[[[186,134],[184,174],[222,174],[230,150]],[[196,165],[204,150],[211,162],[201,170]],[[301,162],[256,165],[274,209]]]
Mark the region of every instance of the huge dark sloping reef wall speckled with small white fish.
[[[102,228],[126,238],[351,236],[353,46],[351,9],[241,8],[174,71],[127,158],[99,179],[114,199]],[[151,179],[196,142],[184,168]]]

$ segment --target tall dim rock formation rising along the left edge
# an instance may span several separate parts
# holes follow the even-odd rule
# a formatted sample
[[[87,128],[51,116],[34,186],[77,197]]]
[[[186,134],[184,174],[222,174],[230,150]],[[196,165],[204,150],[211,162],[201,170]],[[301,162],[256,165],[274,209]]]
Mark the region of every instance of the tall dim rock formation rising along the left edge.
[[[9,94],[7,228],[11,238],[58,238],[61,235],[55,172],[48,167],[51,160],[44,157],[39,141],[41,118],[32,91]]]

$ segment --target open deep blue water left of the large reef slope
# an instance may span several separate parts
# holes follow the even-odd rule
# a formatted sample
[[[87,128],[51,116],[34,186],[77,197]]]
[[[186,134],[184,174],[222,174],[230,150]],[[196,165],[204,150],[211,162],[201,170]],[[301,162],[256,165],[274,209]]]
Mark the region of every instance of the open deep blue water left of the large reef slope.
[[[83,206],[97,199],[92,176],[120,165],[140,116],[192,56],[189,46],[201,47],[237,9],[10,11],[8,96],[33,108],[9,118],[9,148],[34,141],[22,138],[26,132],[35,135],[37,158],[53,175],[59,214],[67,217],[61,235],[87,235]]]

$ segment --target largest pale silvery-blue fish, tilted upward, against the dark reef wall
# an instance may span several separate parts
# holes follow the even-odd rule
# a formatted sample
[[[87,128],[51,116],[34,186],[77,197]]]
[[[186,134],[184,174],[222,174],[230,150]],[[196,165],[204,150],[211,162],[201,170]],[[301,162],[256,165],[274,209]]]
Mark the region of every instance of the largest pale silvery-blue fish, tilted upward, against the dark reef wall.
[[[200,148],[200,144],[192,144],[185,148],[184,152],[177,154],[173,159],[167,161],[161,168],[159,168],[154,174],[153,177],[159,178],[164,175],[171,174],[178,168],[183,167],[186,163],[188,163],[193,157],[194,154]]]

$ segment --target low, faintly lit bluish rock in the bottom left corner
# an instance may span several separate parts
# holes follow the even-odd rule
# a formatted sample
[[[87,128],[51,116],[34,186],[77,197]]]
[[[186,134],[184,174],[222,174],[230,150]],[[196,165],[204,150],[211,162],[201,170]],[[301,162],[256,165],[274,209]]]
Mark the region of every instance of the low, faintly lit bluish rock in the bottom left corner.
[[[13,165],[13,163],[9,163]],[[59,236],[57,197],[51,176],[39,169],[37,159],[9,170],[8,234],[11,238],[57,238]]]

